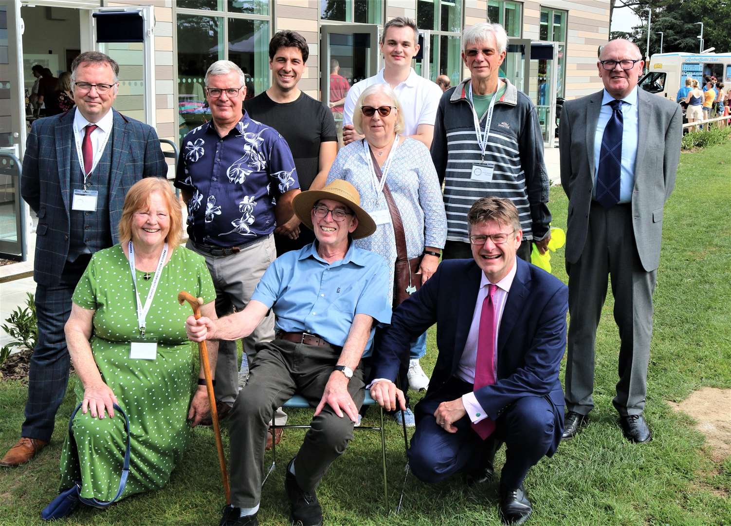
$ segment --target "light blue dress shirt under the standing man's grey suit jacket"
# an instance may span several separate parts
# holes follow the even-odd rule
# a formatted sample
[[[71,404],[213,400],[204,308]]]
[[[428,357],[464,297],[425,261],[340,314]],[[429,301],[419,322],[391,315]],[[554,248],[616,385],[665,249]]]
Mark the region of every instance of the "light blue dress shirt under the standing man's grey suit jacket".
[[[614,100],[609,92],[604,90],[602,98],[602,110],[599,111],[599,121],[596,122],[596,134],[594,135],[594,197],[596,198],[596,176],[599,174],[599,154],[602,151],[602,138],[604,129],[607,127],[612,116],[612,107],[609,105]],[[637,141],[640,135],[640,121],[637,120],[637,86],[630,91],[629,95],[622,100],[622,170],[619,183],[619,202],[632,202],[632,189],[635,187],[635,159],[637,159]]]

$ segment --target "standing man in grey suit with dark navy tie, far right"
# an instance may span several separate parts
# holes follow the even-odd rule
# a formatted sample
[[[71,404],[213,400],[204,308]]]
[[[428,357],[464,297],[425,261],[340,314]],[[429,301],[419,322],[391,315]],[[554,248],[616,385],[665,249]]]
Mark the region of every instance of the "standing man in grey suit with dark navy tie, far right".
[[[612,40],[596,63],[605,89],[567,100],[561,113],[561,184],[569,198],[564,439],[588,423],[594,407],[594,342],[607,275],[621,339],[613,404],[628,440],[644,443],[652,437],[643,417],[652,293],[683,116],[675,102],[637,89],[643,65],[635,44]]]

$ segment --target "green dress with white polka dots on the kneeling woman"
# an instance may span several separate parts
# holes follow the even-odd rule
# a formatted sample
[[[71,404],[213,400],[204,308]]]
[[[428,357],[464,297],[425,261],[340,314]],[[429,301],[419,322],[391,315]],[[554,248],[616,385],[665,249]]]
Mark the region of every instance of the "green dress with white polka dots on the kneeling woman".
[[[143,304],[152,282],[145,281],[144,274],[137,271]],[[129,418],[132,454],[122,497],[167,484],[189,437],[186,418],[197,383],[198,361],[186,339],[185,320],[192,309],[187,303],[178,304],[181,290],[202,297],[205,303],[216,298],[202,256],[177,247],[162,269],[147,315],[145,339],[157,342],[154,360],[129,358],[129,342],[139,337],[140,331],[129,262],[119,245],[94,254],[74,292],[75,304],[96,311],[91,337],[94,361]],[[78,404],[84,395],[80,382],[75,394]],[[61,452],[61,489],[81,481],[82,497],[112,500],[124,460],[124,418],[99,420],[91,418],[91,412],[85,415],[79,411],[72,429],[76,448],[67,437]]]

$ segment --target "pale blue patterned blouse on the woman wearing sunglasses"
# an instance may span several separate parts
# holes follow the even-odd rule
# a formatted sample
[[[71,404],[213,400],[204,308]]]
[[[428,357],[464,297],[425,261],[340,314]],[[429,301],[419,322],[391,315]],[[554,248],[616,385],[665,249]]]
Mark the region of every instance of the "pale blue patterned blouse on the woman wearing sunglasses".
[[[370,155],[370,154],[368,154]],[[327,182],[344,179],[360,194],[360,206],[368,213],[387,210],[386,198],[374,187],[371,168],[363,149],[363,141],[355,141],[338,151]],[[386,184],[401,214],[406,236],[406,255],[420,256],[424,247],[444,248],[447,240],[447,215],[439,179],[431,155],[423,143],[407,138],[396,148],[388,168]],[[390,296],[393,297],[393,266],[396,261],[396,241],[393,224],[378,225],[376,231],[355,246],[382,255],[390,270]]]

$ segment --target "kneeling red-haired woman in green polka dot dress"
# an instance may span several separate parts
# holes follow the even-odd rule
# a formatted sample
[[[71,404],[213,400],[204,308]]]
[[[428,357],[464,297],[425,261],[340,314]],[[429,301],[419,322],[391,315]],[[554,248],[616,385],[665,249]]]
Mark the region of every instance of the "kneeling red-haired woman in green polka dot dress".
[[[167,181],[137,182],[124,202],[121,243],[96,252],[77,285],[66,337],[82,407],[72,424],[75,441],[67,437],[61,453],[61,489],[80,481],[81,497],[115,497],[126,432],[114,404],[129,418],[132,443],[121,498],[167,484],[191,427],[208,414],[205,386],[196,385],[203,372],[196,375],[197,356],[186,338],[190,307],[178,304],[177,296],[187,290],[202,297],[202,314],[211,317],[216,294],[205,260],[178,247],[181,223],[181,206]],[[140,339],[156,345],[133,343]],[[208,343],[212,371],[217,350]]]

